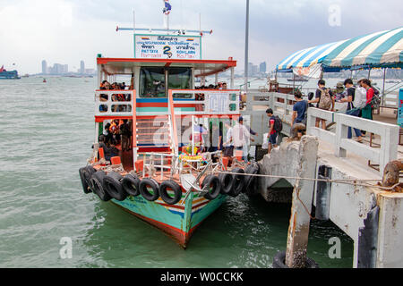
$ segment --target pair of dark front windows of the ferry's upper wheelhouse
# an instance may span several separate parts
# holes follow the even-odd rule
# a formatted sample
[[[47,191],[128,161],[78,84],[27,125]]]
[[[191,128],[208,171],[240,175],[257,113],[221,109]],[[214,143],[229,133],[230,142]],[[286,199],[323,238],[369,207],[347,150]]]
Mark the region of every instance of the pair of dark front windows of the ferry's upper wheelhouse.
[[[159,68],[141,67],[140,70],[140,97],[167,97],[165,72],[167,71],[168,88],[191,89],[191,68]],[[174,97],[191,98],[192,94],[174,94]]]

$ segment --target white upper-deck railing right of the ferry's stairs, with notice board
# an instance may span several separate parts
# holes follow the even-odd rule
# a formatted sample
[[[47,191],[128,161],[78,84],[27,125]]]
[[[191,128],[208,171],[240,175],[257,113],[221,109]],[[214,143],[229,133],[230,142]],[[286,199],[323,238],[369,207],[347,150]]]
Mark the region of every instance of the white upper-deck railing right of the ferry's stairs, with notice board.
[[[181,114],[239,114],[239,90],[219,89],[169,89],[174,97],[174,108],[181,108]],[[177,98],[189,95],[189,99]],[[194,108],[186,111],[184,107]]]

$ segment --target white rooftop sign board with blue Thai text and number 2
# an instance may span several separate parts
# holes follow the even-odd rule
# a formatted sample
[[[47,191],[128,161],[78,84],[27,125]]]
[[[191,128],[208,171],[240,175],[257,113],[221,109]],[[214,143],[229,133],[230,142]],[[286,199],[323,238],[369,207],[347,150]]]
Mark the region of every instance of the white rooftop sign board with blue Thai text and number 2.
[[[201,60],[201,36],[134,35],[134,58]]]

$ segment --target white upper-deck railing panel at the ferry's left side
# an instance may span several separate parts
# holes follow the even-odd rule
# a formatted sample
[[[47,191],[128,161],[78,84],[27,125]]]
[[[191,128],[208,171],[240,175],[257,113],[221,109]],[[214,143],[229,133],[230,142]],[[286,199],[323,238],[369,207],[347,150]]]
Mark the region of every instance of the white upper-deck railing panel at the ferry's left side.
[[[97,90],[95,91],[96,116],[132,116],[135,90]]]

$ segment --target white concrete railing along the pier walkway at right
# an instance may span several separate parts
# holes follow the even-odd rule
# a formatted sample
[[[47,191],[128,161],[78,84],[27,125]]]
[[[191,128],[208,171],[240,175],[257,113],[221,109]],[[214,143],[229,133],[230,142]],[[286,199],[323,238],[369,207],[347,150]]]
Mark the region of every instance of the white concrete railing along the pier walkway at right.
[[[315,118],[336,123],[336,133],[315,127]],[[321,124],[320,124],[321,126]],[[348,127],[366,130],[381,137],[381,147],[370,147],[347,139]],[[347,151],[378,163],[380,172],[386,164],[398,157],[399,126],[384,122],[375,122],[347,114],[332,113],[318,108],[308,108],[307,134],[317,136],[335,147],[335,155],[346,157]],[[352,130],[353,131],[353,130]]]

